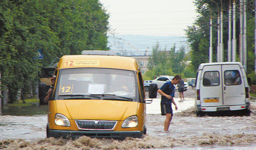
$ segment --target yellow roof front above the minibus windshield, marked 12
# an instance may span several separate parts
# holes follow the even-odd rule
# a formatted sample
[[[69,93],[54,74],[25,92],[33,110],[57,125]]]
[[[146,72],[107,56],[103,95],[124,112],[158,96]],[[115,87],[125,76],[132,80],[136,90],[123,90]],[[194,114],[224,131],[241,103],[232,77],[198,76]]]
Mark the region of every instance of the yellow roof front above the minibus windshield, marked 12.
[[[109,68],[139,70],[136,59],[126,56],[106,55],[65,55],[60,58],[59,69],[67,68]]]

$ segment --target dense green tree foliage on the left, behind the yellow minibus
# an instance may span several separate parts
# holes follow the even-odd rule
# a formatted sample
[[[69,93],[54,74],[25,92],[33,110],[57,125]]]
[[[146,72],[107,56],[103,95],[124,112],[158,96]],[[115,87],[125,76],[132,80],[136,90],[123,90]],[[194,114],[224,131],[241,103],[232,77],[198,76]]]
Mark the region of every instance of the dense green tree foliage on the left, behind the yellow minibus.
[[[0,7],[1,82],[9,99],[38,83],[37,72],[55,57],[82,50],[108,50],[108,14],[98,0],[2,0]],[[37,59],[38,49],[44,58]]]

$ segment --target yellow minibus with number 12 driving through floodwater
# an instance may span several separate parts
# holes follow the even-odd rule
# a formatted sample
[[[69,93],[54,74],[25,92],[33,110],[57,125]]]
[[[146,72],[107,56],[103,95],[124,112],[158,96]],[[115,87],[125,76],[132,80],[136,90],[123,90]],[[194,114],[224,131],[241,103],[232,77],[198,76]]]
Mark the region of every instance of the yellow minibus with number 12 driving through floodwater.
[[[146,99],[132,57],[86,50],[60,58],[48,102],[47,137],[142,138]]]

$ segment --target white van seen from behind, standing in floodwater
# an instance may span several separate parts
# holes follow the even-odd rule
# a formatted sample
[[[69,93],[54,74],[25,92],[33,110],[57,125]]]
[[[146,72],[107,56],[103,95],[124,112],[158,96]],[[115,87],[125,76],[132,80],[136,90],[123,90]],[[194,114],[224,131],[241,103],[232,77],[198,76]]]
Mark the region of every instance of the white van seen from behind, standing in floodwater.
[[[249,116],[249,86],[243,65],[239,62],[200,64],[195,105],[197,116],[224,110],[231,110],[227,113],[238,110]]]

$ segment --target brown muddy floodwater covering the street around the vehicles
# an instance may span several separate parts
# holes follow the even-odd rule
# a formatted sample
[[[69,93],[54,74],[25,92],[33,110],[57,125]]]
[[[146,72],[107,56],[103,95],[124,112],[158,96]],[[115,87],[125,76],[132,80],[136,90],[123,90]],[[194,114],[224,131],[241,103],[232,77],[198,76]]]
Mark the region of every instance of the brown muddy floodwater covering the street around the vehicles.
[[[46,138],[47,106],[2,108],[0,149],[256,149],[256,103],[251,116],[196,117],[194,91],[184,92],[185,101],[175,101],[168,132],[163,131],[160,97],[147,104],[147,135],[126,138],[77,140]]]

